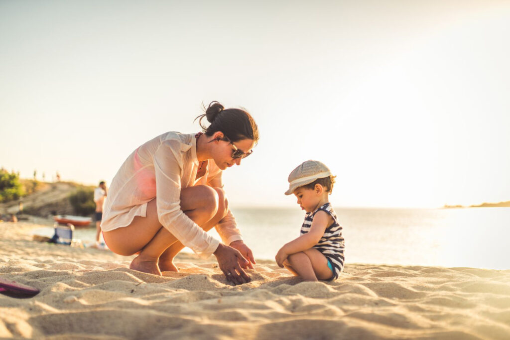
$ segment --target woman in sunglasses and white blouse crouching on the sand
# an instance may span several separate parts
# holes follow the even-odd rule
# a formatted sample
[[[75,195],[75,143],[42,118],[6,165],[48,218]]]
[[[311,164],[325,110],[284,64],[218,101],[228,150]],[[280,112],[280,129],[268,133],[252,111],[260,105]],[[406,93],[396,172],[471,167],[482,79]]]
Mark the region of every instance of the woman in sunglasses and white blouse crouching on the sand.
[[[228,281],[245,283],[242,268],[255,260],[228,208],[221,174],[252,152],[259,130],[247,112],[217,101],[197,118],[203,134],[163,134],[122,164],[104,208],[103,236],[113,252],[138,254],[131,269],[177,271],[173,258],[188,246],[204,258],[214,254]],[[225,245],[207,234],[213,226]]]

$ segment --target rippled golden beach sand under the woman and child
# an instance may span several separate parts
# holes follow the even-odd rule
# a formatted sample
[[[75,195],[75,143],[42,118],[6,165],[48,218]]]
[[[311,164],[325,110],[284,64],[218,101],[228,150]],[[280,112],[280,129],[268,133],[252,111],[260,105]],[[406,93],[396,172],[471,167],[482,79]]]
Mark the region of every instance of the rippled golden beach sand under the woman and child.
[[[261,260],[232,286],[214,257],[180,254],[180,272],[158,277],[131,257],[32,241],[39,227],[0,223],[0,277],[41,291],[0,294],[0,338],[510,338],[510,270],[347,264],[335,282],[300,282]]]

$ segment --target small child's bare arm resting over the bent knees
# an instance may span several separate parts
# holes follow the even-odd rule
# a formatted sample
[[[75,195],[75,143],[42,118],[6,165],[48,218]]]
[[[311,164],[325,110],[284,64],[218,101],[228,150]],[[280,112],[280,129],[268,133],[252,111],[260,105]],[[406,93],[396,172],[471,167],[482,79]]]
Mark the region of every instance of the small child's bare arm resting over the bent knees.
[[[295,254],[315,246],[324,235],[324,231],[331,224],[331,221],[331,216],[326,212],[318,211],[315,213],[310,231],[280,248],[276,254],[276,264],[283,268],[283,263],[290,254]]]

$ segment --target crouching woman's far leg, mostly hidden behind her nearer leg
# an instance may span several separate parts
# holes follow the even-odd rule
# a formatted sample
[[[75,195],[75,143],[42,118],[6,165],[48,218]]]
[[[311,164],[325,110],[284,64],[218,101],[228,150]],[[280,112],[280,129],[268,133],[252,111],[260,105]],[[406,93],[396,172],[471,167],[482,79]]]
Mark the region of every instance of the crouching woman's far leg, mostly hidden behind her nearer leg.
[[[225,193],[223,192],[223,189],[220,188],[213,188],[218,193],[218,211],[216,215],[209,221],[207,221],[205,224],[200,225],[203,230],[209,231],[212,227],[214,227],[216,224],[218,224],[219,221],[228,212],[228,202],[225,197]],[[181,200],[182,202],[182,200]],[[184,211],[186,214],[186,211]],[[158,267],[162,272],[178,272],[179,270],[175,265],[173,264],[174,257],[183,250],[184,245],[177,241],[174,244],[172,244],[170,247],[168,247],[167,250],[161,254],[158,262]]]

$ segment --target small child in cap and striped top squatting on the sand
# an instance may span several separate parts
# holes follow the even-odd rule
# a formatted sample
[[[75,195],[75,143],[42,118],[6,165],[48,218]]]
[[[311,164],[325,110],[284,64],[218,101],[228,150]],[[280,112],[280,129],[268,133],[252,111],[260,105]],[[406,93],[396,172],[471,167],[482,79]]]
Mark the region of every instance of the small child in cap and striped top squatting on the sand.
[[[286,267],[305,281],[337,279],[344,268],[342,226],[329,203],[335,176],[321,162],[306,161],[289,175],[289,190],[307,212],[301,236],[276,254],[279,267]]]

